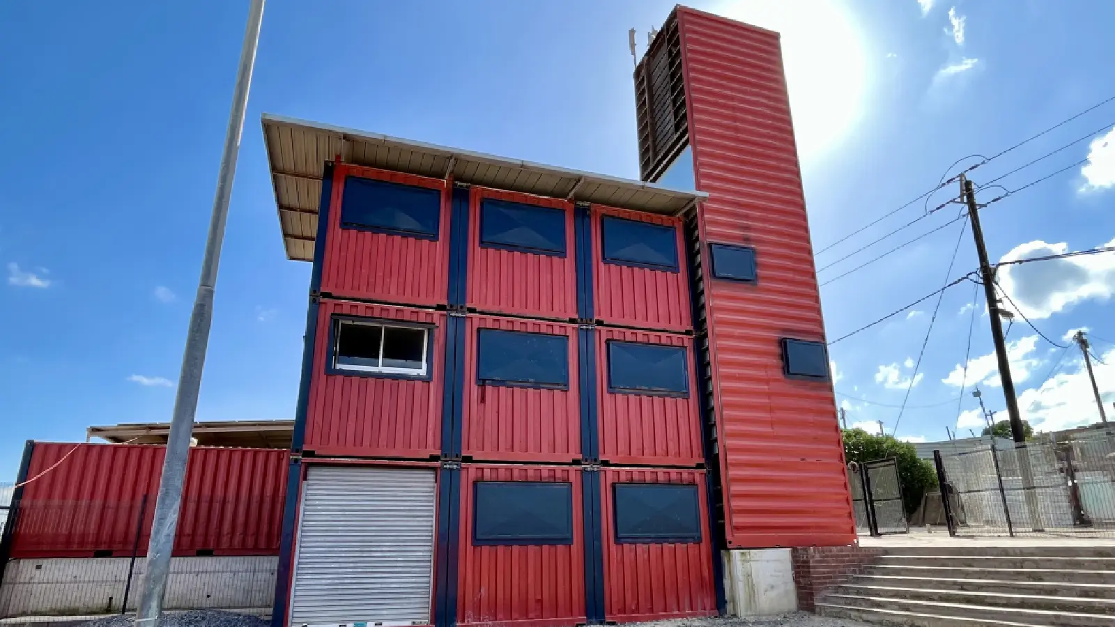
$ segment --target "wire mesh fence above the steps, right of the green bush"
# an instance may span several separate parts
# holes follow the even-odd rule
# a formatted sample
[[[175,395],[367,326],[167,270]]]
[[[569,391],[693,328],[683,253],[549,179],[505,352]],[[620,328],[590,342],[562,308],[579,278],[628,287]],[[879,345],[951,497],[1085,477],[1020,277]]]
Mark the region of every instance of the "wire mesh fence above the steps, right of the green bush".
[[[1115,537],[1115,431],[934,452],[954,536]]]

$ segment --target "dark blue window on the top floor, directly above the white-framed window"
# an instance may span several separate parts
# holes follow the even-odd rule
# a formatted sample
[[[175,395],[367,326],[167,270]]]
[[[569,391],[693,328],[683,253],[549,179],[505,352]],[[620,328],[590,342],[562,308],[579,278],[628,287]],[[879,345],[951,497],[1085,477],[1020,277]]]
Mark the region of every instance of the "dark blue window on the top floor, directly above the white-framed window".
[[[345,179],[341,228],[436,240],[442,192],[359,176]]]

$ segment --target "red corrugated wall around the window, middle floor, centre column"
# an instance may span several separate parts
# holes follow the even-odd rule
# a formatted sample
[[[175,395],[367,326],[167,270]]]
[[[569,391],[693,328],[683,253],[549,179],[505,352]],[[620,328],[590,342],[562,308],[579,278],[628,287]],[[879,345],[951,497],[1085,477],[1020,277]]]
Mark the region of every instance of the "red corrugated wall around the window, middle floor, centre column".
[[[569,389],[476,384],[479,329],[569,338]],[[571,462],[581,459],[576,325],[469,314],[465,324],[463,455],[477,461]]]

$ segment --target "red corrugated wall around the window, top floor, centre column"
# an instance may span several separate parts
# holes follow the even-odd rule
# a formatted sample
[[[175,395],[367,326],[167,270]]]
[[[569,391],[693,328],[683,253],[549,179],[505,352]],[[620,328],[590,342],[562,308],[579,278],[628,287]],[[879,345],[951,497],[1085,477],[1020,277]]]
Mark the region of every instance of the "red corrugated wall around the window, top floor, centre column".
[[[479,245],[481,201],[498,199],[565,211],[565,257]],[[576,318],[576,255],[573,203],[473,187],[468,220],[468,306],[482,311]]]

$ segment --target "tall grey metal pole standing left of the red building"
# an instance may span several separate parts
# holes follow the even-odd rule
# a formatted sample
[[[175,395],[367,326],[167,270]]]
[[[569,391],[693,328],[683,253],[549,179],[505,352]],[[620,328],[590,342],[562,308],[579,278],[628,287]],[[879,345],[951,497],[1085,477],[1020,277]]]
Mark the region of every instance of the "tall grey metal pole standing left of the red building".
[[[186,457],[190,454],[190,438],[193,435],[202,369],[205,366],[205,349],[209,346],[210,326],[213,322],[213,292],[221,262],[224,225],[229,219],[229,199],[232,196],[232,182],[236,175],[236,156],[240,153],[240,137],[244,129],[248,90],[252,84],[252,68],[255,65],[255,48],[260,41],[260,25],[263,22],[263,2],[264,0],[252,0],[248,11],[248,27],[244,29],[244,44],[240,49],[240,68],[236,70],[232,110],[224,135],[221,171],[217,174],[216,194],[213,199],[213,215],[210,218],[209,238],[205,241],[205,258],[202,261],[197,295],[194,297],[194,309],[190,315],[190,330],[182,356],[182,370],[178,373],[178,390],[174,398],[171,433],[166,438],[166,456],[163,461],[158,496],[155,500],[151,542],[147,544],[147,575],[144,577],[136,611],[136,625],[142,627],[158,626],[166,579],[171,571],[171,550],[174,548],[174,532],[178,525]]]

